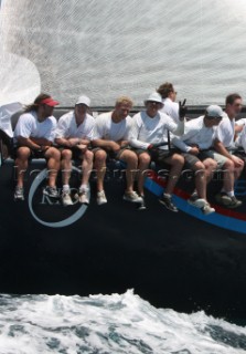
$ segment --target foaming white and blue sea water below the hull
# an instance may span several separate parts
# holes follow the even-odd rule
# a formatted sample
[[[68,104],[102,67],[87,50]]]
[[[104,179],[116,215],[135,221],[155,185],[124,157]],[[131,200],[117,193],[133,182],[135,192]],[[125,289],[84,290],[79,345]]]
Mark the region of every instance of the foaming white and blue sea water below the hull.
[[[124,294],[0,295],[0,354],[246,353],[246,327]]]

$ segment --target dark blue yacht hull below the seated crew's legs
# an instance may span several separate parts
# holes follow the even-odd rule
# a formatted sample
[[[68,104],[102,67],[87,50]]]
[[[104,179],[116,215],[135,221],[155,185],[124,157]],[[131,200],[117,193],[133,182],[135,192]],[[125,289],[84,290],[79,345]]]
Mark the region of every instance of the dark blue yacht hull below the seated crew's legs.
[[[36,175],[26,175],[26,200],[14,202],[13,168],[1,167],[0,292],[88,295],[133,288],[156,306],[246,317],[245,233],[197,219],[183,196],[177,200],[193,216],[168,211],[152,192],[152,181],[148,208],[139,211],[122,200],[119,176],[106,181],[107,205],[96,205],[92,181],[90,204],[81,218],[66,227],[47,227],[30,211]],[[31,208],[44,222],[64,220],[79,209],[51,205],[41,195],[40,185]]]

